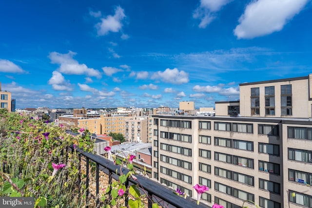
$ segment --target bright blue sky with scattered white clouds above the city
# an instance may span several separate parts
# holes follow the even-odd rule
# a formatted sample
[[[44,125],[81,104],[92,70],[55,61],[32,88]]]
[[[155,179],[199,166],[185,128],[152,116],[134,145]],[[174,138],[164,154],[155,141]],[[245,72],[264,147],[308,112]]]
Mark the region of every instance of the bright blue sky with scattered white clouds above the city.
[[[4,0],[0,82],[17,108],[178,107],[312,73],[312,0]]]

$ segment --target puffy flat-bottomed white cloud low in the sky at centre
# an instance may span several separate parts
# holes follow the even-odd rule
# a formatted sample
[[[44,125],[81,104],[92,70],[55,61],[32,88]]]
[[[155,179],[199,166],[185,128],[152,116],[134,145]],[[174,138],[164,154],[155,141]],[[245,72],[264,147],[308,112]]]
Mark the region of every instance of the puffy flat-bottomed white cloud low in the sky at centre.
[[[164,72],[158,71],[152,75],[152,79],[160,79],[166,83],[183,84],[189,82],[189,75],[177,68],[166,69]]]

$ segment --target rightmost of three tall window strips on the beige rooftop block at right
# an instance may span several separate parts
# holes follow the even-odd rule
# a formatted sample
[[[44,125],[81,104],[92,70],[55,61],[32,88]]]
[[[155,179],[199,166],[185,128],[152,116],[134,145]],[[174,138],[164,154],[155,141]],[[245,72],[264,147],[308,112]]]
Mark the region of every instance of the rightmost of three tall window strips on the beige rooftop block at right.
[[[281,114],[292,115],[292,85],[281,85]]]

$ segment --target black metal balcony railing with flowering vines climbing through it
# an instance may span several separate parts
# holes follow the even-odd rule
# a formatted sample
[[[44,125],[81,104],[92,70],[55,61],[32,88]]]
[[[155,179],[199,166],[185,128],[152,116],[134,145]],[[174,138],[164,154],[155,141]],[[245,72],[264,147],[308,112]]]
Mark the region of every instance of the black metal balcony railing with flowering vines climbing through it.
[[[73,149],[73,147],[71,147]],[[128,169],[123,168],[119,165],[115,165],[113,161],[110,161],[100,155],[93,154],[90,152],[83,151],[81,149],[76,149],[77,152],[80,153],[81,157],[84,157],[86,164],[86,199],[91,196],[91,193],[88,189],[90,184],[89,177],[89,166],[90,163],[93,162],[96,164],[96,206],[99,207],[103,205],[103,202],[100,202],[98,194],[99,194],[99,171],[104,172],[108,175],[108,184],[112,184],[112,179],[118,180],[119,175],[127,174],[129,172]],[[81,169],[81,167],[80,167]],[[135,175],[137,177],[136,180],[133,178],[127,179],[125,182],[125,186],[128,187],[129,184],[135,184],[139,187],[140,191],[143,191],[142,194],[146,194],[147,196],[147,206],[148,208],[152,208],[153,203],[158,203],[162,207],[168,208],[207,208],[207,205],[200,203],[198,206],[196,205],[196,200],[190,197],[186,199],[177,196],[173,193],[173,189],[169,189],[147,177],[142,175]],[[88,203],[87,203],[88,204]],[[125,206],[128,206],[128,197],[125,201]]]

